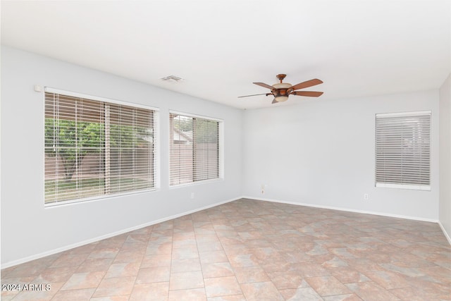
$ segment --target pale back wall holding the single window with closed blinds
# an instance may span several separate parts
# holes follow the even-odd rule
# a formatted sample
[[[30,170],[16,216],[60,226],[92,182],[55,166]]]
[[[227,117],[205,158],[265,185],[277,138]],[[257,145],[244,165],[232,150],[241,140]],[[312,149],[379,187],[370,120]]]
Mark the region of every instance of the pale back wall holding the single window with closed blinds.
[[[243,195],[438,221],[438,91],[289,101],[245,111]],[[375,114],[420,110],[432,110],[431,191],[375,188]]]

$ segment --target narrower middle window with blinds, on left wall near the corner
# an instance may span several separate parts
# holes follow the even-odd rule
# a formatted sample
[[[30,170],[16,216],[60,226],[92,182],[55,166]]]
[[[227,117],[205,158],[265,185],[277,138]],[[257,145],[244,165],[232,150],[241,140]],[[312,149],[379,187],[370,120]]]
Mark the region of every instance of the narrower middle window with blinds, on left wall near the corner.
[[[220,178],[220,125],[180,113],[170,114],[170,185]]]

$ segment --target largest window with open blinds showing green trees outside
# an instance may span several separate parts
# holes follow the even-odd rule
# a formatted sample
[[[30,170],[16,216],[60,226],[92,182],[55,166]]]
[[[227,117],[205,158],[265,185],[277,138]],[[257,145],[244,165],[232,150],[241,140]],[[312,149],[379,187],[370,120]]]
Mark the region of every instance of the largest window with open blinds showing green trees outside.
[[[46,88],[44,203],[155,188],[156,111]]]

